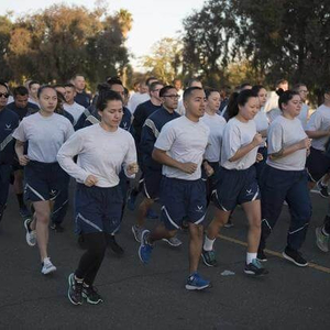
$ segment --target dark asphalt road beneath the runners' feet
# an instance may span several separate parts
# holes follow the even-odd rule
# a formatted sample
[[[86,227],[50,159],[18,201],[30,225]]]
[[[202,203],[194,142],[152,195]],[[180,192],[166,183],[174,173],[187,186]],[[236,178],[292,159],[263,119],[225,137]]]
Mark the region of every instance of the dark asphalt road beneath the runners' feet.
[[[50,234],[50,255],[57,272],[43,276],[37,249],[25,243],[23,221],[11,193],[0,224],[0,329],[330,329],[330,254],[315,245],[315,228],[322,222],[327,202],[312,194],[314,216],[301,250],[312,264],[306,268],[278,254],[285,248],[289,221],[284,207],[268,242],[270,275],[264,278],[243,274],[248,222],[238,208],[234,227],[223,229],[216,243],[219,266],[200,264],[200,273],[213,284],[200,293],[184,288],[187,233],[179,233],[184,241],[179,249],[160,242],[151,264],[142,265],[131,233],[134,213],[127,211],[118,235],[124,256],[119,258],[108,251],[96,279],[105,302],[77,307],[66,297],[67,276],[82,253],[73,231],[72,209],[65,232]],[[207,221],[211,213],[212,208]],[[156,221],[148,220],[147,227],[153,228]],[[223,276],[224,271],[234,274]]]

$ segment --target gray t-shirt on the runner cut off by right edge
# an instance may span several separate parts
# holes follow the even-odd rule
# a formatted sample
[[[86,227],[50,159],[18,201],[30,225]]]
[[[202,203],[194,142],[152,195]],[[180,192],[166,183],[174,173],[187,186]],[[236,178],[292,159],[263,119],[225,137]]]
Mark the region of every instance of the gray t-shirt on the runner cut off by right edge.
[[[306,131],[329,131],[330,130],[330,108],[324,105],[320,106],[311,116],[307,123]],[[324,144],[329,136],[312,139],[314,148],[324,151]]]

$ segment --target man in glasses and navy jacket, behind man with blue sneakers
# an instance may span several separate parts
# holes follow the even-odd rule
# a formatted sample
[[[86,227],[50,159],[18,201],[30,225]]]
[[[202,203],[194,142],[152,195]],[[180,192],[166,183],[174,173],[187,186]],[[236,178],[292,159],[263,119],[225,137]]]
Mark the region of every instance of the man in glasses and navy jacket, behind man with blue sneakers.
[[[136,222],[132,227],[132,232],[138,242],[141,242],[141,234],[144,230],[145,217],[155,200],[160,198],[160,186],[162,179],[162,164],[152,158],[154,144],[163,127],[180,116],[175,112],[179,95],[174,86],[165,86],[160,90],[160,98],[163,107],[151,114],[142,128],[140,151],[143,163],[143,193],[144,199],[139,206]],[[176,237],[166,239],[172,246],[182,245]]]

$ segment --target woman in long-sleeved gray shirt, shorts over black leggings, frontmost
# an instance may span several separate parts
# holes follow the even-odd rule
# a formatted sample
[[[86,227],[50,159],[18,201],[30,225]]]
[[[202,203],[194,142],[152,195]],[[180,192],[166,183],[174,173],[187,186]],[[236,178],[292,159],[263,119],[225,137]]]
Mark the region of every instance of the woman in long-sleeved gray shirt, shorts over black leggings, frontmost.
[[[76,132],[59,150],[61,166],[77,180],[75,196],[76,232],[84,237],[87,251],[80,257],[75,273],[68,277],[68,298],[81,305],[103,299],[94,287],[111,234],[121,218],[122,193],[119,173],[134,177],[138,172],[133,136],[119,128],[122,99],[113,91],[101,94],[97,109],[100,124]],[[77,164],[74,157],[78,155]]]

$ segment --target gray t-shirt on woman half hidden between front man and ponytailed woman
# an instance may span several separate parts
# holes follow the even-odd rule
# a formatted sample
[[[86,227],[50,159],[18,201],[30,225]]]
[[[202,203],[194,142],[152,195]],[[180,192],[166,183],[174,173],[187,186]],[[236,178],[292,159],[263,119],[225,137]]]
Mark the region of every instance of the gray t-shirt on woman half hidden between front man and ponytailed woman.
[[[204,157],[209,162],[219,162],[222,134],[227,122],[223,117],[217,113],[210,116],[207,112],[200,120],[210,129],[209,143]]]

